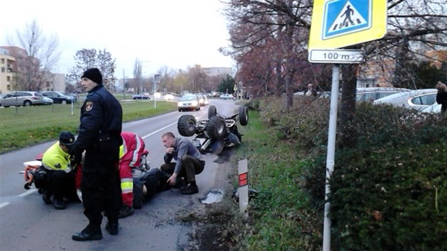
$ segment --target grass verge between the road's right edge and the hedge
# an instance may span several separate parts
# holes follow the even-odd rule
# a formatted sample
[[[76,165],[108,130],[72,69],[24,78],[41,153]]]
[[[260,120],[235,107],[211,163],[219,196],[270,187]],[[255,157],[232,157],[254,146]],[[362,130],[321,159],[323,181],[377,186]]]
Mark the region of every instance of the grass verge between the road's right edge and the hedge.
[[[250,222],[236,217],[228,225],[226,236],[236,240],[233,248],[319,250],[321,219],[300,189],[309,161],[299,156],[292,141],[279,140],[275,130],[265,127],[259,113],[250,112],[250,122],[240,130],[243,143],[232,162],[237,166],[238,160],[248,159],[249,188],[258,194],[250,199]],[[233,209],[238,216],[238,208]]]

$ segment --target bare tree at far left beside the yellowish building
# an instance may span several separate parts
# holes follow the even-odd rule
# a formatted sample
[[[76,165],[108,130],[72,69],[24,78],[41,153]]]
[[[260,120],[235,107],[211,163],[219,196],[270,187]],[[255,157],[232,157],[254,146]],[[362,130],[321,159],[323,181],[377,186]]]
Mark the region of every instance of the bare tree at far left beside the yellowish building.
[[[9,45],[16,45],[25,50],[12,50],[16,57],[15,73],[16,89],[40,91],[43,84],[53,77],[51,69],[60,57],[57,50],[57,35],[46,37],[37,21],[26,24],[23,30],[16,30],[16,38],[8,38]]]

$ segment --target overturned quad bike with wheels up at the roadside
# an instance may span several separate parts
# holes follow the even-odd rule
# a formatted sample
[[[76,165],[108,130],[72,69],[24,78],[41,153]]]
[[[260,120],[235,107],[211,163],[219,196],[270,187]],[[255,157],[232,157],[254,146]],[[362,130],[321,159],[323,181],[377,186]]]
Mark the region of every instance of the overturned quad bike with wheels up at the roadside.
[[[177,123],[177,130],[184,137],[196,137],[192,143],[200,152],[218,155],[224,147],[241,144],[242,135],[238,132],[237,123],[248,124],[248,109],[239,106],[238,113],[225,117],[217,113],[216,106],[209,106],[208,119],[197,121],[192,115],[182,115]]]

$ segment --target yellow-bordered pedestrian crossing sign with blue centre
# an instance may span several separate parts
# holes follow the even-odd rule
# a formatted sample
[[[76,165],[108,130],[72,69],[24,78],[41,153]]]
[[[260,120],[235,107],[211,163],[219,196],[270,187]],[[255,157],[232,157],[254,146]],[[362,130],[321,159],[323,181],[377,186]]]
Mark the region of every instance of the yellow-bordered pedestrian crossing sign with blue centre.
[[[309,49],[335,49],[382,38],[385,0],[315,0]]]

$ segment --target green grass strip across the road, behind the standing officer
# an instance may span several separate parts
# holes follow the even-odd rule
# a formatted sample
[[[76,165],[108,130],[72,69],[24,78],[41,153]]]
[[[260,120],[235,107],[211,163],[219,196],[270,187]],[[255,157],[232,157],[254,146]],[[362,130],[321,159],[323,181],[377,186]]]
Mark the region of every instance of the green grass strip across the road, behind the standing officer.
[[[75,133],[79,126],[80,106],[74,104],[73,109],[71,105],[62,104],[0,108],[0,153],[55,140],[61,130]],[[157,101],[156,109],[153,101],[126,101],[121,106],[124,122],[177,109],[177,104],[166,101]]]

